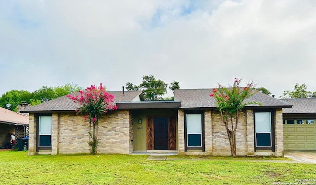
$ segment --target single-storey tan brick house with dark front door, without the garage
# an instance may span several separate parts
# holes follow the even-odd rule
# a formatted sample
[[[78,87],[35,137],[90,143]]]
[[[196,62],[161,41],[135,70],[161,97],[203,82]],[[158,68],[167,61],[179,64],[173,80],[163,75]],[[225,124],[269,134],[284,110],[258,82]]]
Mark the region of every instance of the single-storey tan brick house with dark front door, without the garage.
[[[109,92],[118,110],[99,120],[99,153],[173,151],[230,155],[230,144],[211,89],[175,90],[174,101],[144,101],[141,91]],[[73,94],[75,95],[75,94]],[[237,155],[283,155],[282,108],[261,92],[240,112]],[[30,113],[29,154],[89,153],[88,123],[66,96],[26,108]]]

